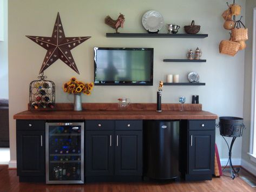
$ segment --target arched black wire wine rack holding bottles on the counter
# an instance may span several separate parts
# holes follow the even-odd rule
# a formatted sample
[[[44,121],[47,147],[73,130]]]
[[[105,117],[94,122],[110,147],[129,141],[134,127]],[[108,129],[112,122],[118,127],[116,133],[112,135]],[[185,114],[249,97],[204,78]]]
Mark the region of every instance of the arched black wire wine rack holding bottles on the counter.
[[[54,109],[55,108],[55,84],[46,81],[47,76],[43,72],[38,76],[39,80],[29,84],[29,104],[31,109]]]

